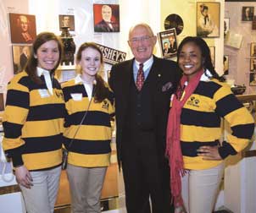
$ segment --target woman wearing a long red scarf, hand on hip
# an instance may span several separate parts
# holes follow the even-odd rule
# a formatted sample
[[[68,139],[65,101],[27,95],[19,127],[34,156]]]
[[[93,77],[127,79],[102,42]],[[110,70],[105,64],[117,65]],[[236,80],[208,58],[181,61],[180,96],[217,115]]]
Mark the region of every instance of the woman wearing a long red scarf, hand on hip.
[[[181,41],[177,60],[183,76],[171,98],[166,142],[175,212],[210,213],[223,175],[223,160],[248,145],[254,121],[215,72],[209,46],[202,38]],[[231,126],[231,134],[223,142],[222,118]],[[186,210],[182,210],[183,200]]]

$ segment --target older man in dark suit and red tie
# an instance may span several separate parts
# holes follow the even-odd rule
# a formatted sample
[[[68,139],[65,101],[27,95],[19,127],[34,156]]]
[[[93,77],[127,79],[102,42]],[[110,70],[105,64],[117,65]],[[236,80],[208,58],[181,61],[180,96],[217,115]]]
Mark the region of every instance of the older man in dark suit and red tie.
[[[128,44],[134,58],[114,65],[109,79],[128,213],[173,212],[165,132],[170,96],[181,73],[175,62],[153,56],[156,41],[147,24],[132,27]]]

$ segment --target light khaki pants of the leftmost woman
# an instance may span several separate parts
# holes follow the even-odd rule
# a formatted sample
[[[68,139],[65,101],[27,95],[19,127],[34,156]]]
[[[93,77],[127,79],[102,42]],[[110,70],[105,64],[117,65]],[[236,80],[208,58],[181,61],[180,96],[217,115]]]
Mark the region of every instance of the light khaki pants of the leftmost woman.
[[[53,213],[58,194],[61,167],[31,172],[33,186],[25,188],[19,185],[27,213]]]

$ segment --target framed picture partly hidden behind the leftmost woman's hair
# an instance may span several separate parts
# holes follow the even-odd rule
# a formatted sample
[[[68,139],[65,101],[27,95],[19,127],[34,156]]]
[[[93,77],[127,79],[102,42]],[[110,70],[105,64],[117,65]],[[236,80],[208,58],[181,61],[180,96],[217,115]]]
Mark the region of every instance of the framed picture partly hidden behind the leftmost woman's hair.
[[[28,58],[31,56],[31,45],[13,46],[14,74],[19,74],[25,68]]]

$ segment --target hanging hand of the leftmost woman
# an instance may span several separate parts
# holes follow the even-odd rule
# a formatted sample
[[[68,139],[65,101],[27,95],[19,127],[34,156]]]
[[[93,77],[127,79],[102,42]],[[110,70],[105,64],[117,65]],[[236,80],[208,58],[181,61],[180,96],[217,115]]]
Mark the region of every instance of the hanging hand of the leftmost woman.
[[[33,186],[31,173],[23,165],[15,168],[16,181],[25,188],[31,188]]]

